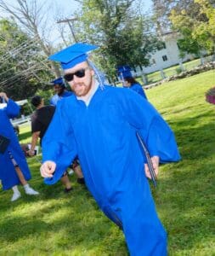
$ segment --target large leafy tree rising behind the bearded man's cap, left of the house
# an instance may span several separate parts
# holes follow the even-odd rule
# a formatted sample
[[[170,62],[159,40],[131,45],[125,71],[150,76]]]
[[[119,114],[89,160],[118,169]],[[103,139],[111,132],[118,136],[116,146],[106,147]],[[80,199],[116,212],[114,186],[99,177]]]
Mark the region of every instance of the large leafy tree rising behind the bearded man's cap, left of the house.
[[[145,19],[129,0],[83,0],[76,31],[79,40],[98,44],[96,61],[111,78],[116,67],[143,66],[149,63],[148,53],[155,49],[155,38],[146,32]]]

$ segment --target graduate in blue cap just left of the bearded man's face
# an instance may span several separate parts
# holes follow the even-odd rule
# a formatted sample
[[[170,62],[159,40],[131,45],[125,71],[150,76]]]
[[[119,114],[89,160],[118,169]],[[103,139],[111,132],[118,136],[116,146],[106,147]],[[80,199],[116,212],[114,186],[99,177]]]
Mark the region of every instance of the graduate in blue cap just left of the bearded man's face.
[[[51,83],[54,85],[54,96],[50,99],[50,104],[56,106],[57,103],[65,97],[71,96],[72,92],[65,89],[65,83],[64,80],[60,77],[58,79],[54,79],[51,81]]]

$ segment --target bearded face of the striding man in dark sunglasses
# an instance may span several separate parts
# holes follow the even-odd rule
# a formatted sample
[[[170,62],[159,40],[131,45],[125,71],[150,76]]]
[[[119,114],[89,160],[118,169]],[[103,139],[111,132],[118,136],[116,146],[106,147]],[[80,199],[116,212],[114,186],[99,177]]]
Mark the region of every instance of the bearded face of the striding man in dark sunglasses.
[[[82,78],[76,75],[77,71],[84,73]],[[73,79],[71,81],[68,81],[71,86],[71,90],[76,94],[76,96],[87,96],[89,90],[92,88],[94,74],[93,69],[88,66],[88,62],[84,61],[77,64],[75,67],[66,69],[65,74],[69,73],[74,74]]]

